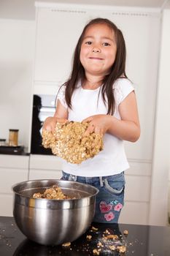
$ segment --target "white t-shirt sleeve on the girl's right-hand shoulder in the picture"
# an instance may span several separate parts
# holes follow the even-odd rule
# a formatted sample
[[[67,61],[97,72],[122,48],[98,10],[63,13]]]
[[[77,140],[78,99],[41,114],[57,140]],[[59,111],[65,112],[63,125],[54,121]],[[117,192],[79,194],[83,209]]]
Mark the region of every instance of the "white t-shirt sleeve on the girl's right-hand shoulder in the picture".
[[[120,105],[120,103],[123,102],[123,99],[125,99],[131,91],[134,91],[134,86],[127,78],[120,78],[115,83],[114,89],[116,105]]]

